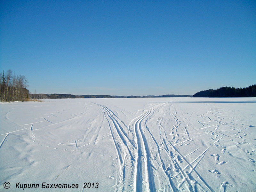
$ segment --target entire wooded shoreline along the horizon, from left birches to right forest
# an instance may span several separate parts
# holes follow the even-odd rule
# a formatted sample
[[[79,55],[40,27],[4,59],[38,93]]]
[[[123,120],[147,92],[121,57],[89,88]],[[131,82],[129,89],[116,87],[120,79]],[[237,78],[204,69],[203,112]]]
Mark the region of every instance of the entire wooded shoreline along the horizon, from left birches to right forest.
[[[29,99],[63,99],[63,98],[145,98],[145,97],[192,97],[191,95],[148,95],[148,96],[112,96],[112,95],[72,95],[64,93],[31,94],[28,80],[24,75],[15,75],[9,69],[2,73],[0,82],[1,101],[24,101]],[[36,93],[36,91],[35,91]],[[197,92],[193,97],[256,97],[256,84],[244,87],[221,87]]]

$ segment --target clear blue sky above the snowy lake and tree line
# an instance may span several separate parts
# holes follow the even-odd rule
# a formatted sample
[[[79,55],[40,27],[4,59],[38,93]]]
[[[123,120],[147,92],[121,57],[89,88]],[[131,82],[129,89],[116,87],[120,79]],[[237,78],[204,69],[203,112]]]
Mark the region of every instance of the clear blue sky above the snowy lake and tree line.
[[[34,93],[194,94],[256,83],[256,1],[0,4],[0,70]]]

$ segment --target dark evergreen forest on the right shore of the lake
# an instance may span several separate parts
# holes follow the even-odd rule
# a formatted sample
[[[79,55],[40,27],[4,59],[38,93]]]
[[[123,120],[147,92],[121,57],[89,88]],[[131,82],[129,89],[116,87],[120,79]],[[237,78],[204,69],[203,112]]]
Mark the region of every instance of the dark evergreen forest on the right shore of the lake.
[[[221,87],[197,92],[193,97],[256,97],[256,84],[244,87]]]

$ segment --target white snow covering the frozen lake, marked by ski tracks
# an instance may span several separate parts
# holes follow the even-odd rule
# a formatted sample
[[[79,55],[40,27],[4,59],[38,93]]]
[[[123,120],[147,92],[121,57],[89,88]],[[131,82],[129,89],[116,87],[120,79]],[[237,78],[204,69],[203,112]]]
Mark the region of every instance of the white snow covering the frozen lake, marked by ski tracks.
[[[255,98],[0,103],[0,121],[0,191],[255,191]]]

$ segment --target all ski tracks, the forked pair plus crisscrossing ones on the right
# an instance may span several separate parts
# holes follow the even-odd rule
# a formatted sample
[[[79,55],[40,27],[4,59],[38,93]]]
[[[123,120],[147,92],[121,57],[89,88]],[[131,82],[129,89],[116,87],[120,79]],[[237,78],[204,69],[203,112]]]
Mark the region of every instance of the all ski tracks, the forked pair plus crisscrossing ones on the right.
[[[185,187],[186,190],[188,191],[197,191],[199,187],[201,188],[201,190],[213,192],[212,188],[206,183],[203,177],[200,176],[200,174],[195,170],[195,168],[197,164],[203,159],[206,151],[208,151],[212,145],[214,145],[216,142],[222,139],[225,135],[220,137],[218,140],[215,140],[217,137],[221,136],[221,134],[217,135],[213,139],[213,142],[210,143],[210,146],[208,146],[199,156],[197,156],[196,159],[194,159],[194,161],[189,162],[186,159],[187,156],[193,154],[194,152],[204,147],[207,143],[211,141],[208,141],[203,146],[193,150],[186,156],[183,156],[180,153],[179,149],[176,148],[175,146],[180,145],[186,141],[192,140],[196,137],[201,137],[203,135],[209,134],[209,132],[201,133],[199,136],[196,136],[196,137],[190,137],[187,127],[185,127],[184,131],[185,131],[185,134],[188,136],[188,139],[185,139],[183,141],[180,141],[174,144],[168,140],[166,130],[164,126],[161,124],[161,122],[163,121],[163,117],[159,117],[157,120],[157,124],[159,126],[159,136],[162,142],[161,145],[164,146],[164,152],[166,152],[169,156],[168,164],[171,163],[171,166],[168,165],[168,167],[166,167],[165,162],[167,159],[164,159],[162,157],[163,151],[160,151],[161,149],[156,138],[153,136],[153,134],[150,132],[150,129],[146,125],[147,120],[153,115],[156,108],[159,108],[163,104],[155,105],[154,107],[144,111],[140,116],[137,116],[136,118],[132,119],[132,121],[128,126],[126,126],[124,122],[119,117],[117,117],[116,114],[112,110],[110,110],[108,107],[97,104],[97,103],[94,103],[94,104],[101,107],[101,110],[108,121],[109,129],[110,129],[112,139],[116,148],[119,167],[120,167],[120,169],[116,172],[116,177],[117,177],[116,191],[125,190],[127,186],[125,186],[124,183],[130,186],[130,191],[134,191],[134,192],[135,191],[136,192],[156,191],[156,186],[155,186],[156,178],[154,177],[157,176],[157,169],[153,164],[154,159],[152,159],[151,157],[152,151],[148,146],[148,136],[149,136],[149,138],[153,139],[154,141],[153,143],[156,145],[156,148],[157,148],[156,155],[160,160],[160,162],[156,162],[156,163],[159,165],[159,168],[162,170],[162,173],[161,173],[162,176],[164,178],[167,178],[167,180],[165,181],[166,183],[164,188],[167,188],[169,191],[172,191],[172,192],[177,192],[185,182],[186,184],[183,187]],[[177,117],[175,116],[176,109],[174,108],[173,110],[174,110],[173,118],[176,119],[175,126],[176,128],[178,128],[178,125],[180,125],[180,121],[178,121]],[[129,133],[131,134],[129,135]],[[127,157],[129,160],[126,160]],[[184,160],[186,162],[187,165],[185,165],[185,167],[184,167],[184,164],[181,163],[182,162],[181,160]],[[131,164],[126,164],[127,161],[130,161]],[[186,170],[188,168],[189,170]],[[133,177],[132,180],[130,180],[131,178],[125,178],[125,175],[126,175],[125,172],[129,169],[132,169],[130,171],[130,173],[132,174],[130,176]],[[177,174],[173,174],[174,172],[172,172],[172,169],[176,170]],[[154,174],[154,172],[156,173]],[[192,177],[191,174],[193,172],[196,175],[197,179]],[[175,184],[175,180],[177,179],[177,176],[179,174],[182,175],[183,180],[178,185],[178,184]]]

